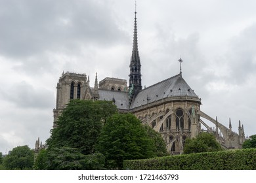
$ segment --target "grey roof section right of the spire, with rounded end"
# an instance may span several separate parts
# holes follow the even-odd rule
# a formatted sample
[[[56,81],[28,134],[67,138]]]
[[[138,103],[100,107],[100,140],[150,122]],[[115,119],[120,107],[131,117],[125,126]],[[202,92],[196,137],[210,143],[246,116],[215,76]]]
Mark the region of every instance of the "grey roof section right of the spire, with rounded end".
[[[181,74],[179,74],[141,90],[136,96],[131,108],[140,107],[141,105],[153,103],[167,97],[185,96],[198,97],[182,78]]]

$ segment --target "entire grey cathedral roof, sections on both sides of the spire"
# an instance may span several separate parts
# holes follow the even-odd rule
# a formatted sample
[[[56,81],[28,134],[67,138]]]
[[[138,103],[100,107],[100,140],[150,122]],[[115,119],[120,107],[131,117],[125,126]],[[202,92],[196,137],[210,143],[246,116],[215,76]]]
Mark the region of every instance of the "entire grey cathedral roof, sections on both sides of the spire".
[[[116,103],[117,108],[121,110],[129,109],[129,97],[128,92],[119,92],[112,90],[98,90],[100,100],[113,101]],[[198,95],[188,86],[186,81],[181,75],[176,75],[171,78],[167,78],[157,84],[149,86],[144,90],[141,90],[135,97],[131,109],[146,105],[147,103],[153,103],[160,101],[167,97],[194,97],[198,98]]]

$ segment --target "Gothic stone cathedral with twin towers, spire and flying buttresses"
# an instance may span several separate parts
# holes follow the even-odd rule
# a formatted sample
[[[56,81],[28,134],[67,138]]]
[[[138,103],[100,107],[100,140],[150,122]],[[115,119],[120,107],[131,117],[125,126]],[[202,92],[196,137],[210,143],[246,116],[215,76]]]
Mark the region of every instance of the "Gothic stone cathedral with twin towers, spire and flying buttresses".
[[[142,124],[150,125],[163,137],[170,154],[181,154],[186,138],[198,133],[213,133],[223,148],[242,148],[245,141],[244,126],[239,121],[238,133],[211,118],[200,110],[201,99],[178,75],[162,80],[142,89],[141,63],[138,50],[137,12],[133,30],[133,49],[129,64],[129,85],[127,80],[106,77],[98,82],[97,73],[94,87],[89,76],[77,73],[62,73],[56,86],[56,108],[53,109],[54,122],[71,99],[112,101],[119,112],[131,112]],[[179,59],[180,64],[182,59]],[[128,72],[127,72],[128,73]],[[210,127],[203,120],[211,122]],[[205,127],[205,129],[203,129]]]

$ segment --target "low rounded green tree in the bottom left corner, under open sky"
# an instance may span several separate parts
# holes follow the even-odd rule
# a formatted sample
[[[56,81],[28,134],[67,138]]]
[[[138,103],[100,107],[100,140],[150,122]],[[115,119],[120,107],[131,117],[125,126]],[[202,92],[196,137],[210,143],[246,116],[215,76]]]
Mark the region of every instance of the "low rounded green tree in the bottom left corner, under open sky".
[[[28,146],[17,146],[3,160],[7,169],[32,169],[34,154]]]

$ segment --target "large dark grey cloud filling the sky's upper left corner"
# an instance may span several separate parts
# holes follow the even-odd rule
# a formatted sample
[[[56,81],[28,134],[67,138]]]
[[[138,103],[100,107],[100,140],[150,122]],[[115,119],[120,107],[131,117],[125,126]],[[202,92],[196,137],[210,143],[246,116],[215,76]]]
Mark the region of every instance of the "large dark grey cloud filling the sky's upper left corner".
[[[99,46],[121,39],[108,3],[11,0],[1,1],[0,7],[0,54],[5,56],[77,52],[81,44]]]

